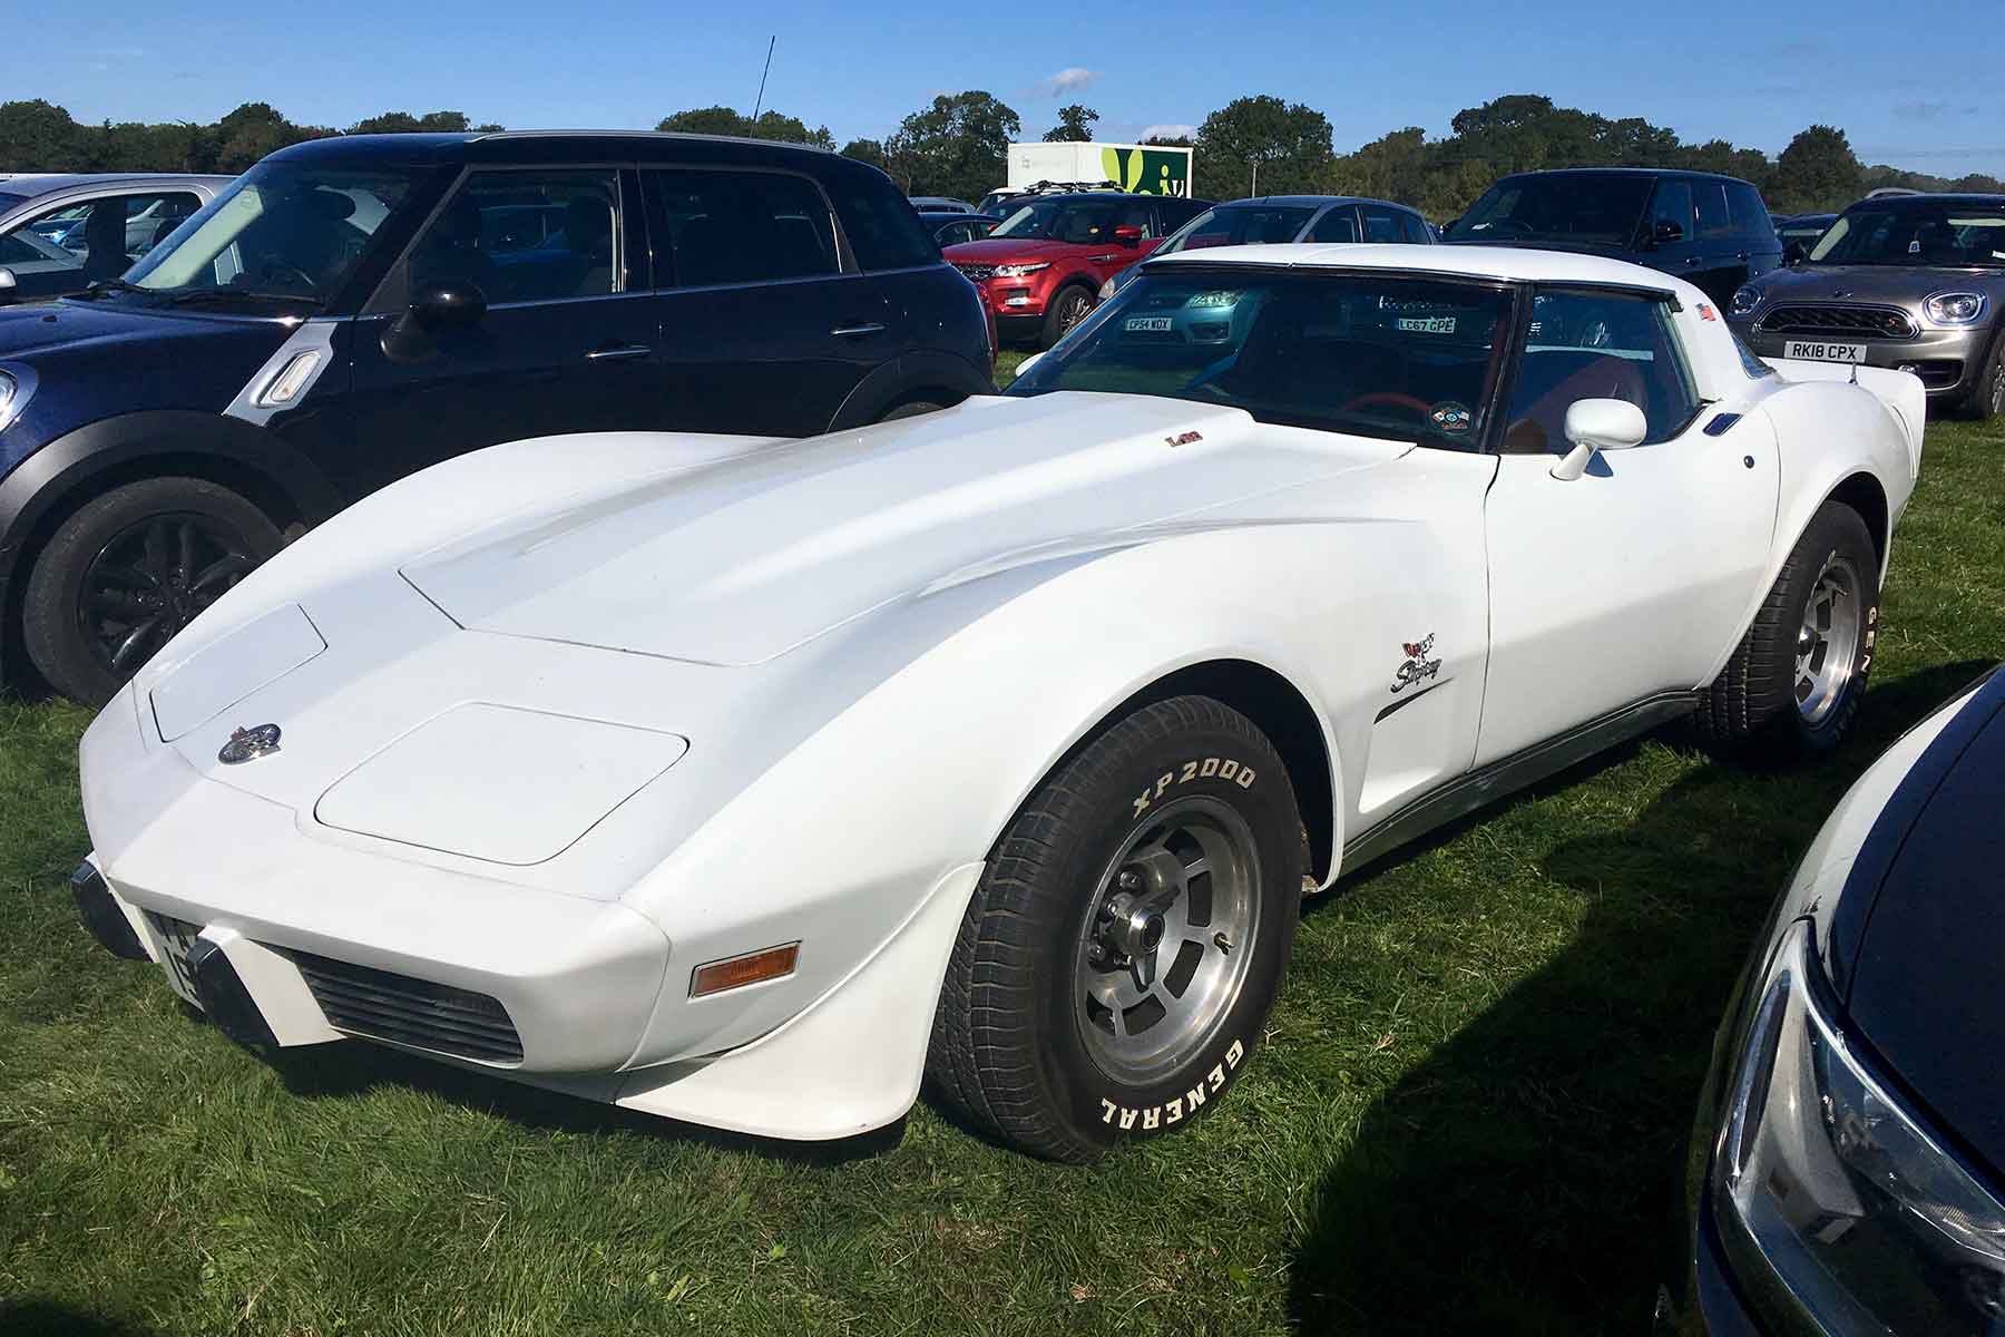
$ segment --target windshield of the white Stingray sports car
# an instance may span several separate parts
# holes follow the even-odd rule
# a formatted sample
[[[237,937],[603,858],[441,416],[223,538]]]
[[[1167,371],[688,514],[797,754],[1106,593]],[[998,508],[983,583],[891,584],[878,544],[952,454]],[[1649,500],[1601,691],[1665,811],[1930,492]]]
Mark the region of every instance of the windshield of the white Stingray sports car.
[[[1510,295],[1468,281],[1161,265],[1009,387],[1245,409],[1263,423],[1478,449]]]

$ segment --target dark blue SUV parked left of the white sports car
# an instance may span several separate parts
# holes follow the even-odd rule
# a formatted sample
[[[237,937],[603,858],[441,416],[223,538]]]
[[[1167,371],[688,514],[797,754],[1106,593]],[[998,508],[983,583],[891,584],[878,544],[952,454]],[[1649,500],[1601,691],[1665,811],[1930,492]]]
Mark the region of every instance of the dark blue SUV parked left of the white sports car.
[[[912,206],[832,152],[295,144],[124,279],[0,311],[0,667],[100,702],[289,527],[463,451],[812,435],[988,393],[990,367]]]

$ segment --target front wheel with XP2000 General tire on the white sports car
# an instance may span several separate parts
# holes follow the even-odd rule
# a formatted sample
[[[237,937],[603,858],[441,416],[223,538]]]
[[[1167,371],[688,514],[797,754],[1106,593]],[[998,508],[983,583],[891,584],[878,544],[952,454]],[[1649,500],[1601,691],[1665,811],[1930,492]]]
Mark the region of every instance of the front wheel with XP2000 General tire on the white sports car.
[[[1267,738],[1213,698],[1109,726],[1002,832],[926,1070],[1055,1161],[1169,1133],[1251,1058],[1301,910],[1301,818]]]

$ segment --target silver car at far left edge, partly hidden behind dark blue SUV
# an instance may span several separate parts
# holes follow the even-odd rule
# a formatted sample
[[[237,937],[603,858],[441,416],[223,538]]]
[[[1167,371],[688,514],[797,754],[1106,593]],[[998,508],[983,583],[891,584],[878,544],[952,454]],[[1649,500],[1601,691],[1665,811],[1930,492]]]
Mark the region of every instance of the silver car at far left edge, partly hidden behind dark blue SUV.
[[[116,279],[235,176],[0,174],[0,305]]]

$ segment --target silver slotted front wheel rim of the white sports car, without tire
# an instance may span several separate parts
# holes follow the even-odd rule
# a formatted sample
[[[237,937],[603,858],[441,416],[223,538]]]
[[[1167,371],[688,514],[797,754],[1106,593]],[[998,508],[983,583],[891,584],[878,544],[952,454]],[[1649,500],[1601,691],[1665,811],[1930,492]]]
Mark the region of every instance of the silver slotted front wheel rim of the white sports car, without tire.
[[[1259,854],[1229,804],[1191,796],[1139,822],[1093,892],[1075,952],[1087,1052],[1143,1086],[1215,1036],[1259,934]]]

